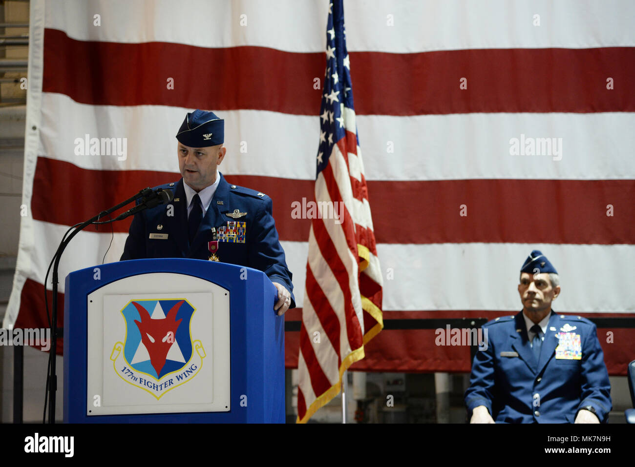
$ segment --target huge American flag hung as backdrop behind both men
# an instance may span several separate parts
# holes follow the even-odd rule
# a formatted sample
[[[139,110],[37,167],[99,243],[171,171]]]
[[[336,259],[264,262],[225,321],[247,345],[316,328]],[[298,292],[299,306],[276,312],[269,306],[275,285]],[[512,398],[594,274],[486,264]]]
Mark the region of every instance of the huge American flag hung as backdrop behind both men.
[[[68,226],[178,180],[174,135],[196,108],[225,118],[227,180],[272,197],[304,303],[311,219],[291,205],[316,185],[328,0],[30,5],[29,215],[4,326],[46,326],[44,274]],[[384,323],[516,313],[533,249],[560,272],[554,310],[632,316],[635,3],[359,0],[344,10]],[[126,138],[125,160],[82,154],[86,135]],[[514,138],[527,150],[515,153]],[[538,138],[561,150],[531,155]],[[128,225],[113,226],[105,261],[119,258]],[[60,278],[100,263],[110,236],[77,235]],[[286,319],[300,322],[301,310]],[[352,369],[469,371],[465,346],[388,328]],[[609,371],[624,374],[632,330],[598,333]],[[288,367],[299,341],[286,333]]]

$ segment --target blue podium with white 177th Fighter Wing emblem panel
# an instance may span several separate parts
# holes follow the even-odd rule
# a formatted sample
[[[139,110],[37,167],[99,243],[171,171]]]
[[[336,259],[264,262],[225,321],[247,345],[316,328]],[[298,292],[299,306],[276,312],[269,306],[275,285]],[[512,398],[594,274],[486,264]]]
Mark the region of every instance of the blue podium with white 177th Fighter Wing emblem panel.
[[[66,423],[284,423],[284,317],[264,273],[169,258],[65,284]]]

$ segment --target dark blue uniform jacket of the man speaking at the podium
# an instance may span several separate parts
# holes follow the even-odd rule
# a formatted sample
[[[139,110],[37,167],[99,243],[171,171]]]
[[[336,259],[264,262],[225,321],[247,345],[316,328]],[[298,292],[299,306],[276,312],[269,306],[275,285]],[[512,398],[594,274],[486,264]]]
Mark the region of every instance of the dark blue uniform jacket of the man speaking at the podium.
[[[218,175],[218,187],[191,245],[187,234],[187,198],[181,179],[156,187],[173,190],[174,199],[170,204],[159,205],[135,214],[121,261],[142,258],[207,260],[211,255],[208,242],[214,240],[211,228],[215,227],[218,232],[222,230],[219,227],[227,228],[228,223],[244,222],[244,241],[229,242],[222,241],[222,238],[218,239],[219,260],[261,270],[272,282],[278,282],[290,291],[290,308],[294,308],[292,275],[278,240],[271,198],[250,188],[230,185],[221,173]],[[168,215],[170,210],[173,214],[171,216]],[[237,217],[242,213],[245,214]],[[233,214],[234,217],[229,214]],[[150,234],[163,234],[161,236],[167,235],[167,238],[150,238]]]

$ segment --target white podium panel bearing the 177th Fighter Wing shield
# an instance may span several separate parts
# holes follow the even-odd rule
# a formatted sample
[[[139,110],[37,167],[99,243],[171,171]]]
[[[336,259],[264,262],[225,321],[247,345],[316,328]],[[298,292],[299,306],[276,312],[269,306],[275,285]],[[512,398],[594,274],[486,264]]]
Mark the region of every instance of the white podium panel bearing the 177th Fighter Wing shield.
[[[217,284],[179,273],[88,294],[86,415],[229,411],[229,300]]]

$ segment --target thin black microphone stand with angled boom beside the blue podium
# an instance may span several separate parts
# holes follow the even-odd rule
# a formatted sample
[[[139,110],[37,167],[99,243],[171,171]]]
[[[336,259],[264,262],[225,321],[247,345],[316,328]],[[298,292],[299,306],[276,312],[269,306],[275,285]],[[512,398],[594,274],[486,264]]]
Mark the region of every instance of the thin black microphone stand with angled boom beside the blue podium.
[[[63,240],[60,243],[60,246],[57,247],[57,251],[55,252],[55,263],[53,265],[53,279],[52,279],[53,319],[51,320],[51,336],[52,336],[53,342],[51,343],[51,353],[53,355],[53,358],[51,358],[51,377],[50,377],[49,387],[48,387],[49,401],[50,401],[49,412],[48,412],[48,423],[55,423],[55,393],[57,391],[57,374],[56,374],[56,371],[57,371],[56,369],[56,366],[57,366],[56,365],[56,360],[57,360],[56,358],[57,357],[57,284],[58,284],[57,270],[58,270],[58,266],[60,265],[60,258],[62,258],[62,253],[64,253],[64,249],[69,244],[70,240],[72,240],[72,238],[75,235],[79,234],[81,230],[88,227],[88,225],[91,225],[91,223],[99,220],[100,218],[106,216],[107,214],[114,213],[114,211],[117,211],[117,209],[121,209],[122,207],[126,206],[126,204],[133,201],[137,201],[137,199],[139,199],[140,197],[147,196],[151,193],[152,193],[152,190],[150,188],[144,188],[133,197],[126,199],[126,201],[120,202],[119,204],[117,204],[117,206],[110,207],[110,209],[107,209],[106,211],[102,211],[101,213],[97,214],[97,216],[91,217],[89,220],[82,223],[81,225],[79,225],[79,227],[73,230],[73,232],[71,232],[71,234],[67,237],[67,239]],[[44,287],[46,287],[46,284],[44,284]]]

